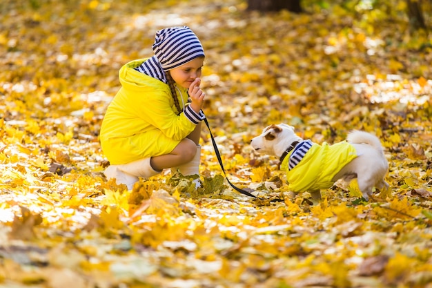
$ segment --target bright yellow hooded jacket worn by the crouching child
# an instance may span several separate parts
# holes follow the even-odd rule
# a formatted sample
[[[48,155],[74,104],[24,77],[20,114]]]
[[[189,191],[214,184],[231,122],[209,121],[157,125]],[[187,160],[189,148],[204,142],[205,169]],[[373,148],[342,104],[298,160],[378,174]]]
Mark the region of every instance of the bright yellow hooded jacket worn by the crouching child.
[[[197,113],[186,105],[187,89],[176,85],[184,106],[177,115],[168,84],[134,69],[145,60],[130,61],[119,70],[121,88],[107,108],[99,137],[110,164],[168,154],[197,125]]]

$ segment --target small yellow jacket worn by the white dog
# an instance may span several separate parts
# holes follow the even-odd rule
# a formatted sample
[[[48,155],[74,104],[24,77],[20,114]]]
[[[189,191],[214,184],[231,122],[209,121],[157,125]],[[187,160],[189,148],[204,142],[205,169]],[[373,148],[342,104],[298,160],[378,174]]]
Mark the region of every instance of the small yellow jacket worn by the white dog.
[[[286,155],[281,164],[281,169],[287,171],[288,189],[294,192],[330,188],[333,177],[357,157],[354,146],[345,141],[333,145],[314,143],[302,160],[289,170],[288,161],[294,151]]]

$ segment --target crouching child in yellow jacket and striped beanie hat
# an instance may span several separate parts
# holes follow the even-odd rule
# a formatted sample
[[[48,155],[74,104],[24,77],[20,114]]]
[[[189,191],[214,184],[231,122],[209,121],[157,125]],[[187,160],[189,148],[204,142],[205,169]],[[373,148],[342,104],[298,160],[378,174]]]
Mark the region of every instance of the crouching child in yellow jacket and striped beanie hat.
[[[101,126],[105,175],[128,189],[166,168],[199,174],[204,49],[187,26],[157,31],[152,48],[153,57],[120,69],[122,87]]]

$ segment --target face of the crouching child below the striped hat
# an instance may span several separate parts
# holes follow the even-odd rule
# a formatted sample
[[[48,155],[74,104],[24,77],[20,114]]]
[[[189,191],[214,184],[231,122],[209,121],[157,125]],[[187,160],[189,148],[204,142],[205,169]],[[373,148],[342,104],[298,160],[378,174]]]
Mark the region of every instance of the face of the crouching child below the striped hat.
[[[189,88],[197,77],[201,77],[204,57],[198,57],[188,61],[179,67],[170,70],[171,77],[181,87]]]

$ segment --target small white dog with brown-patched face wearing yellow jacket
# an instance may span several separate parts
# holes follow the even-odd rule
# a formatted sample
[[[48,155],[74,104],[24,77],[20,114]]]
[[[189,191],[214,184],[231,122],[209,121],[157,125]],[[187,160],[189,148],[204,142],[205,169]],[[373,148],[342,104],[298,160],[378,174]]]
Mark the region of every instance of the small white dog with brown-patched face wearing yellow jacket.
[[[320,145],[303,140],[294,129],[287,124],[269,125],[251,140],[258,153],[279,157],[290,191],[308,191],[313,200],[320,200],[321,189],[330,188],[339,179],[349,182],[357,178],[363,198],[369,201],[374,187],[389,188],[384,180],[389,163],[375,135],[354,130],[346,141]]]

